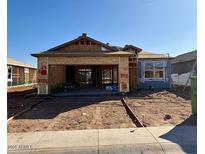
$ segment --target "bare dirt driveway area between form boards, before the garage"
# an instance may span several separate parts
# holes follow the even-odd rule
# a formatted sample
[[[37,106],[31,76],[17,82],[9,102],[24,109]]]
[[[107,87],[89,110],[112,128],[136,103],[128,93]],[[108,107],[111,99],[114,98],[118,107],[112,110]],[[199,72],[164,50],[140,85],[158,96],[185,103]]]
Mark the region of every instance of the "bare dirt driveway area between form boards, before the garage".
[[[119,97],[52,98],[8,123],[8,132],[135,127]]]

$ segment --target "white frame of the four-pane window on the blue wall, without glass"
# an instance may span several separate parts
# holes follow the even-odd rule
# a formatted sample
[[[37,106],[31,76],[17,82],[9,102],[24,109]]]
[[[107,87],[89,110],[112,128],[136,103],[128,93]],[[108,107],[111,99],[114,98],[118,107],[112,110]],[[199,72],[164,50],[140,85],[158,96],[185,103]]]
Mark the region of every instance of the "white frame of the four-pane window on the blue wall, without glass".
[[[152,63],[153,69],[146,69],[146,63]],[[162,69],[156,69],[156,63],[162,63]],[[164,66],[164,61],[144,61],[144,80],[145,81],[165,81],[165,75],[166,75],[166,67]],[[153,71],[153,77],[147,78],[146,76],[146,71]],[[163,71],[163,77],[156,77],[156,72],[157,71]]]

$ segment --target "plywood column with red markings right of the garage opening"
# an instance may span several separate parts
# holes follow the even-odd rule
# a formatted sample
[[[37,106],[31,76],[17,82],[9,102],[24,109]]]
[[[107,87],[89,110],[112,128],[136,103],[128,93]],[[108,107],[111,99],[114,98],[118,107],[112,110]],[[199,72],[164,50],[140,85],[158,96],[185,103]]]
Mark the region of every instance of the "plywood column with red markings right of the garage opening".
[[[129,92],[129,58],[119,57],[119,92]]]

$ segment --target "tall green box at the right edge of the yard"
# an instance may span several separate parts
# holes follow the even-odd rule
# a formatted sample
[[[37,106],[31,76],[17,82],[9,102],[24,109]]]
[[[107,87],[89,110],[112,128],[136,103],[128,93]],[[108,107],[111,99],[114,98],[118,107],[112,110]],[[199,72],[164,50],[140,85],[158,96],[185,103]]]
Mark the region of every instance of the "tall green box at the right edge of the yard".
[[[191,103],[192,113],[197,114],[197,77],[191,78]]]

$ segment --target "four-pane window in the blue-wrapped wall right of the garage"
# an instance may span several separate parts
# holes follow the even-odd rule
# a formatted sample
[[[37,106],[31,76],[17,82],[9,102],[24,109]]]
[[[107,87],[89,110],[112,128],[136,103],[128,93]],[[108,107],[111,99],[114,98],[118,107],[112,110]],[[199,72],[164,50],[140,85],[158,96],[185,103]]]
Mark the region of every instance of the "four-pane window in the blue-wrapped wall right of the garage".
[[[145,79],[164,79],[165,67],[162,61],[145,62]]]

